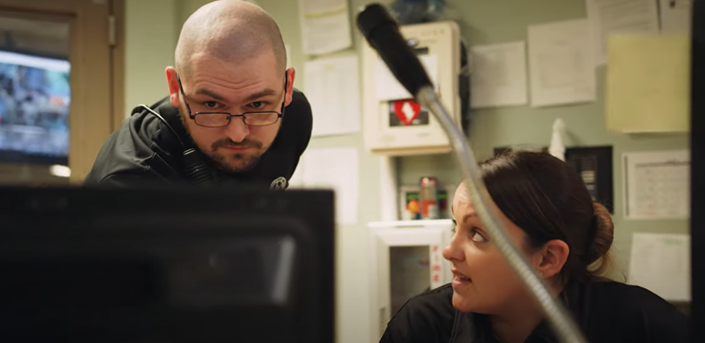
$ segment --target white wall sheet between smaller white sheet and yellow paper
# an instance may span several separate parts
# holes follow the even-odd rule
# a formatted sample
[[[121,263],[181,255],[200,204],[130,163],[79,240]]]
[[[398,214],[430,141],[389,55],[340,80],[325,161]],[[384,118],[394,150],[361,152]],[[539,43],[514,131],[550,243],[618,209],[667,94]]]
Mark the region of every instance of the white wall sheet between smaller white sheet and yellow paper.
[[[529,26],[532,106],[595,100],[595,65],[589,42],[584,19]]]

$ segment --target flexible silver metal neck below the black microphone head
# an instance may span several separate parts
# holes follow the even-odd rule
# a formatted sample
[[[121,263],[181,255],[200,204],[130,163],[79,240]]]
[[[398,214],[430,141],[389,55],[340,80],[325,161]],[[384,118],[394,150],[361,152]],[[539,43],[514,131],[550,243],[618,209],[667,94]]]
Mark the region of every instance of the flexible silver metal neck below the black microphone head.
[[[446,130],[450,145],[453,146],[453,151],[460,162],[460,170],[467,180],[467,187],[470,190],[470,200],[472,206],[477,212],[477,217],[482,221],[487,229],[487,232],[492,237],[492,240],[504,256],[509,266],[519,276],[520,280],[529,289],[534,299],[538,301],[541,309],[544,311],[548,323],[553,328],[556,336],[563,343],[587,343],[580,329],[575,325],[570,313],[565,310],[565,306],[560,304],[560,301],[553,299],[553,296],[543,282],[534,274],[534,270],[525,261],[525,258],[513,246],[507,237],[505,230],[498,218],[492,213],[489,206],[489,201],[485,194],[487,190],[482,182],[482,177],[477,167],[470,145],[467,144],[465,136],[453,119],[448,115],[448,111],[441,104],[440,99],[436,96],[436,92],[432,87],[422,87],[416,94],[416,99],[420,104],[429,108],[434,113],[436,119],[439,120],[443,130]]]

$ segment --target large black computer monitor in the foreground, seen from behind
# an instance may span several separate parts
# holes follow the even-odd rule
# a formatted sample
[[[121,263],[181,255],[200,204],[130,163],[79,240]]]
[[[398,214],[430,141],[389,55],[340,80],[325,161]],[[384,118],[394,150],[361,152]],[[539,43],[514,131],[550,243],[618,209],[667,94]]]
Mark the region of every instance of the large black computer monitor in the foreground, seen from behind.
[[[0,342],[333,342],[333,194],[0,189]]]

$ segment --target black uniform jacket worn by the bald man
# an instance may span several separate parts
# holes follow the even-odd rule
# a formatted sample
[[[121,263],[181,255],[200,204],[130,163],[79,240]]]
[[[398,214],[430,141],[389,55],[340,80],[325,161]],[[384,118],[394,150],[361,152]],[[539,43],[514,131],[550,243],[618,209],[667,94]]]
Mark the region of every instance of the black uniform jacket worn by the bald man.
[[[151,106],[178,134],[192,145],[180,121],[178,108],[168,97]],[[281,177],[290,180],[299,158],[308,146],[312,129],[311,106],[302,92],[294,89],[286,107],[278,135],[257,165],[243,173],[224,173],[209,167],[213,180],[221,183],[247,183],[270,188]],[[183,146],[177,136],[157,116],[138,106],[132,116],[107,139],[86,177],[85,185],[136,187],[160,182],[192,183],[185,173]]]

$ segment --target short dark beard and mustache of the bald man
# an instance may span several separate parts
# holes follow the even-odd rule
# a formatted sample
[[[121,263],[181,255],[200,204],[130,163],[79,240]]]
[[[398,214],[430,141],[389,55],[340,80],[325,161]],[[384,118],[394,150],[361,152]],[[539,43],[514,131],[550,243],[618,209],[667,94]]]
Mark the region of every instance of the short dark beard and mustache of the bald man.
[[[181,107],[181,106],[180,106]],[[182,108],[179,108],[180,113],[187,113],[184,111]],[[198,149],[203,153],[204,158],[207,159],[207,163],[209,163],[211,166],[214,166],[220,170],[223,170],[226,173],[243,173],[249,170],[252,170],[252,168],[255,168],[257,166],[257,163],[259,162],[259,159],[262,157],[262,154],[264,154],[264,151],[266,151],[266,148],[263,149],[264,144],[262,142],[259,142],[255,139],[243,139],[242,142],[234,142],[232,139],[229,138],[224,138],[224,139],[219,139],[216,142],[213,142],[211,144],[210,149],[206,149],[207,147],[201,146],[198,142],[193,139],[191,135],[191,131],[188,128],[188,125],[186,123],[187,118],[183,116],[182,114],[179,115],[179,118],[181,119],[181,123],[183,124],[183,127],[185,127],[186,132],[188,132],[188,135],[191,136],[192,141],[196,144]],[[254,150],[255,152],[247,152],[247,153],[219,153],[219,148],[221,147],[248,147],[250,150]],[[232,166],[229,161],[242,161],[244,163],[238,163],[240,166]]]

